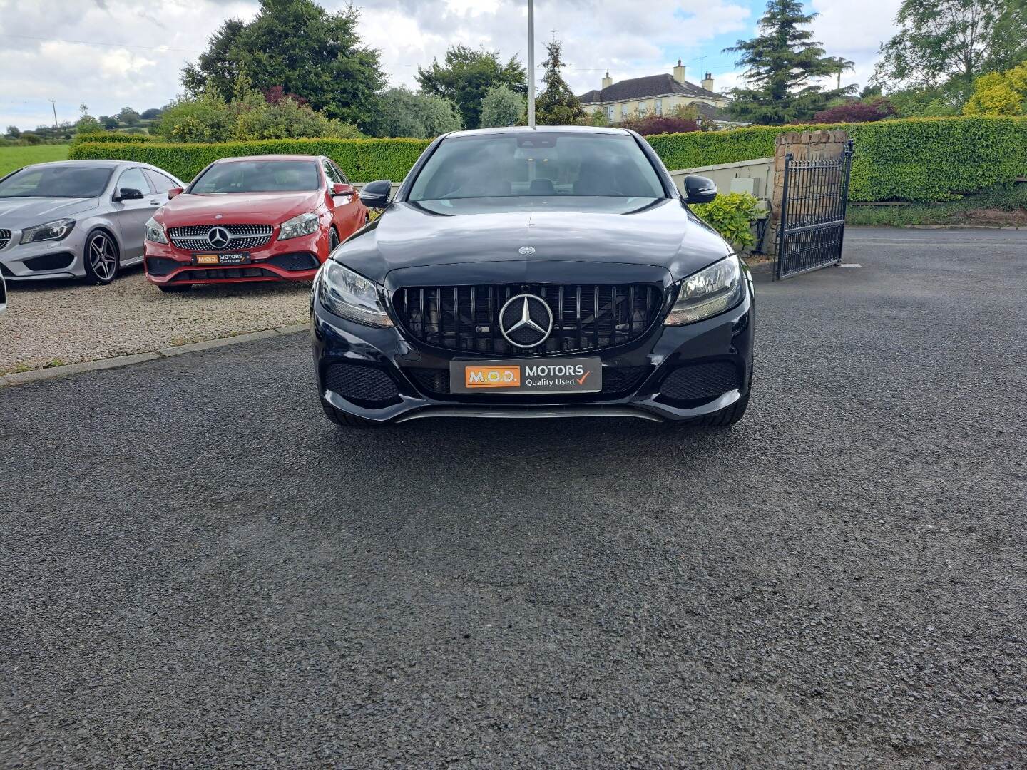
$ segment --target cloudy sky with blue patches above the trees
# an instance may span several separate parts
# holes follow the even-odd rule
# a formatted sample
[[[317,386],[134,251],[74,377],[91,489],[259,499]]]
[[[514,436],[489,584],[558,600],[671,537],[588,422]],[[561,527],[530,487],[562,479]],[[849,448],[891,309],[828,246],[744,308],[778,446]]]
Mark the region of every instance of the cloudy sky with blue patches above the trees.
[[[806,0],[828,54],[855,68],[844,83],[863,86],[880,44],[895,32],[900,0]],[[329,9],[346,0],[320,0]],[[417,66],[454,43],[527,61],[527,0],[354,0],[359,32],[381,50],[392,85],[416,88]],[[564,43],[565,79],[575,93],[613,79],[670,72],[680,57],[686,78],[714,75],[716,90],[739,83],[723,48],[753,37],[765,0],[536,0],[536,79],[544,43]],[[252,18],[257,0],[0,0],[0,130],[77,120],[122,107],[142,112],[182,90],[183,65],[205,49],[229,17]]]

